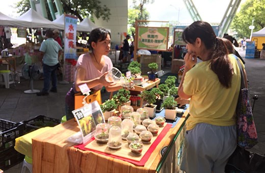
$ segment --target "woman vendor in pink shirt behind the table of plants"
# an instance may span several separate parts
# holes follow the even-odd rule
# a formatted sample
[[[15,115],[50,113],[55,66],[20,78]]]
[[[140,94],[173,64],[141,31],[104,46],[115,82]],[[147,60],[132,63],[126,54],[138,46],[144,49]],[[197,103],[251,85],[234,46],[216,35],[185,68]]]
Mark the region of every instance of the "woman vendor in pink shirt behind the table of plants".
[[[74,94],[81,92],[79,85],[86,83],[91,91],[101,90],[103,86],[108,92],[122,88],[120,84],[105,79],[113,67],[110,57],[107,56],[111,46],[110,32],[104,28],[95,28],[89,35],[88,45],[90,52],[78,57],[74,83],[65,96],[67,120],[73,118]]]

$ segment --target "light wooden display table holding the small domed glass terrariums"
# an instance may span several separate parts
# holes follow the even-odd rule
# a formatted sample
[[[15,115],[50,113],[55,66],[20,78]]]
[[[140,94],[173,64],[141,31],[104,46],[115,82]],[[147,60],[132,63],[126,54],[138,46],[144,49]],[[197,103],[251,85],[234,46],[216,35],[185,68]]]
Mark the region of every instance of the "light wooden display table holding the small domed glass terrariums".
[[[73,147],[76,144],[67,142],[66,139],[80,130],[77,123],[72,119],[59,124],[32,139],[33,172],[154,173],[156,169],[160,170],[160,172],[169,169],[175,170],[177,165],[172,164],[172,162],[176,162],[176,151],[179,148],[179,145],[178,147],[176,145],[183,139],[183,125],[187,118],[187,112],[183,114],[176,126],[171,128],[157,145],[145,166],[136,166],[120,159],[76,149]],[[160,151],[166,146],[170,146],[168,154],[166,152],[162,157]]]

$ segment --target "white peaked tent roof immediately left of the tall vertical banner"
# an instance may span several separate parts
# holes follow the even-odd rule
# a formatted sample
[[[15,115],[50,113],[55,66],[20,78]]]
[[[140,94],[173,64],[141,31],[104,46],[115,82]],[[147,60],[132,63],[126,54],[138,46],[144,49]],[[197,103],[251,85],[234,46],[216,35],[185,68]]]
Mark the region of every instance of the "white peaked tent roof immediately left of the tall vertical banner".
[[[50,20],[42,17],[33,9],[30,9],[29,11],[25,12],[16,19],[29,22],[26,27],[33,27],[33,28],[43,27],[43,28],[52,28],[60,30],[64,29],[64,25],[51,22]]]

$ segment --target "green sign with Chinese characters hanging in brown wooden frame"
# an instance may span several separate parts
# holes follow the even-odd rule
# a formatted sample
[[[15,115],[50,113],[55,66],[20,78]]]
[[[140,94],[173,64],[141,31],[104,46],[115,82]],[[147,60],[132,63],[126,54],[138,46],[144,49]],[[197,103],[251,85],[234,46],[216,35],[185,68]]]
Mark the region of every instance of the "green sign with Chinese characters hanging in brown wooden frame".
[[[138,48],[167,50],[169,27],[139,27]]]

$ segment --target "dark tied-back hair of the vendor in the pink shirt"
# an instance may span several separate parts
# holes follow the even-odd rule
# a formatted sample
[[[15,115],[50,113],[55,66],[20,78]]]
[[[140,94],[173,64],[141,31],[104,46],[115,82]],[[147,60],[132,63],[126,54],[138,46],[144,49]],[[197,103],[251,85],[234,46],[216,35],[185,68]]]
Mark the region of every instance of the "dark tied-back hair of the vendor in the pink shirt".
[[[111,33],[103,27],[98,27],[92,30],[88,39],[89,48],[93,51],[93,47],[91,46],[92,42],[97,43],[98,41],[103,41],[107,38],[108,34],[111,37]]]

